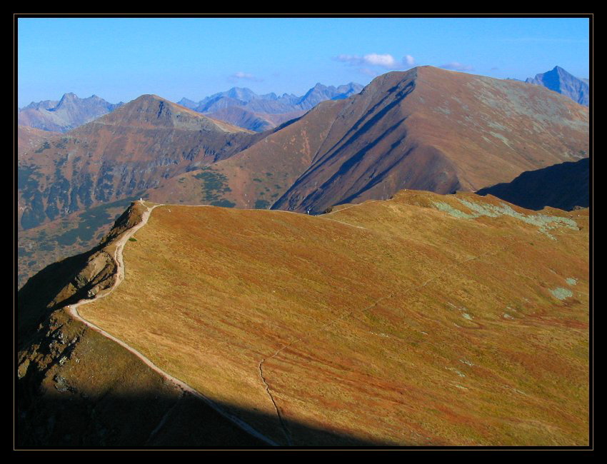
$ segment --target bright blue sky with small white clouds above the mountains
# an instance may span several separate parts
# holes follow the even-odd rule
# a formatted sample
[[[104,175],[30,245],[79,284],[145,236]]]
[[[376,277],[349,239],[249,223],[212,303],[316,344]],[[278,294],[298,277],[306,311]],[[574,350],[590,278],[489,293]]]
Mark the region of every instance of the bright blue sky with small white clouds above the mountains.
[[[303,95],[431,65],[524,80],[588,77],[587,18],[18,19],[19,107],[66,92],[199,101],[234,86]]]

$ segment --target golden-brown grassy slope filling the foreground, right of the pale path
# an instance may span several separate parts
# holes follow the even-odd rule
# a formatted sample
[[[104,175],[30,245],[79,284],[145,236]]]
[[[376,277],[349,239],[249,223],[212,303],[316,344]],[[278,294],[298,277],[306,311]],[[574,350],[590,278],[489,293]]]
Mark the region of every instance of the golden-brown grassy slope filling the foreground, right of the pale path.
[[[588,445],[588,210],[402,191],[160,206],[134,237],[81,316],[272,440]]]

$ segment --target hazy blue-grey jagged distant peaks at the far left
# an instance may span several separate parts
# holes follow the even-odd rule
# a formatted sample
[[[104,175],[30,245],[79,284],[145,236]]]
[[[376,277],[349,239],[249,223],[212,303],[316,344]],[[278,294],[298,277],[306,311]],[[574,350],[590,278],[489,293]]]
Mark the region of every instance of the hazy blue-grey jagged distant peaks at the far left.
[[[76,94],[65,94],[60,101],[32,102],[19,110],[20,125],[44,131],[67,132],[99,116],[111,113],[123,103],[111,104],[99,96],[80,99]]]

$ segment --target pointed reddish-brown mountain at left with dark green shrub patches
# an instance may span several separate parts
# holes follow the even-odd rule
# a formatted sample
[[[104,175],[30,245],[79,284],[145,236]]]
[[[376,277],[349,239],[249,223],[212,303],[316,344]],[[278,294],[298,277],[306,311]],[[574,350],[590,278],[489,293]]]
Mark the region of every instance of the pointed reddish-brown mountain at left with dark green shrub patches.
[[[136,195],[227,158],[255,134],[156,96],[141,96],[19,157],[19,226]]]

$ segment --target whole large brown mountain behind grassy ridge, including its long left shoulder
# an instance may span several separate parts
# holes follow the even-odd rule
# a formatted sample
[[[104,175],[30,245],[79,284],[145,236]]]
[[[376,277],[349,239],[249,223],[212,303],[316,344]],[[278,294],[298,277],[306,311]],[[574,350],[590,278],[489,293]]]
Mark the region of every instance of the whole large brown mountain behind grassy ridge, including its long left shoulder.
[[[401,188],[475,191],[586,156],[583,106],[539,86],[423,66],[323,101],[236,156],[147,193],[322,213]]]

